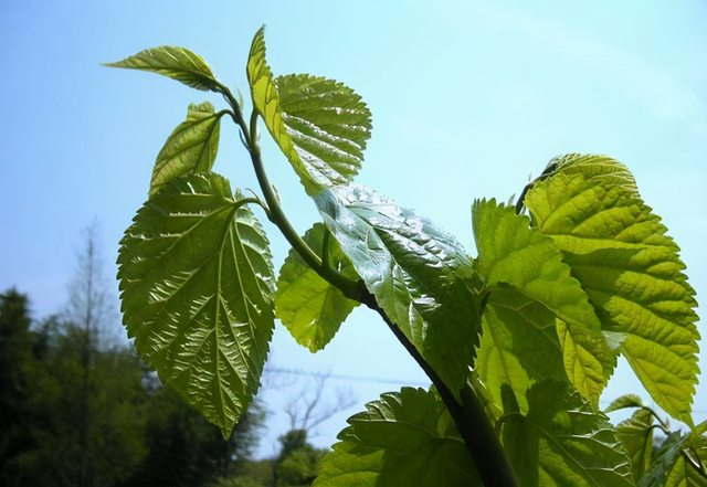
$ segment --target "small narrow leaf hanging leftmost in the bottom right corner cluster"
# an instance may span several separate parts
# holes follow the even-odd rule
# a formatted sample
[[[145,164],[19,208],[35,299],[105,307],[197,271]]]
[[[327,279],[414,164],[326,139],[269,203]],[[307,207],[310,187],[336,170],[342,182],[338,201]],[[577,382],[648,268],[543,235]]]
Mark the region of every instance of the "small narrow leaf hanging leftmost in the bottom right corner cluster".
[[[619,400],[621,399],[619,398]],[[641,480],[645,472],[651,468],[654,430],[651,426],[653,426],[653,413],[643,407],[616,426],[616,436],[631,458],[631,472],[635,481]]]

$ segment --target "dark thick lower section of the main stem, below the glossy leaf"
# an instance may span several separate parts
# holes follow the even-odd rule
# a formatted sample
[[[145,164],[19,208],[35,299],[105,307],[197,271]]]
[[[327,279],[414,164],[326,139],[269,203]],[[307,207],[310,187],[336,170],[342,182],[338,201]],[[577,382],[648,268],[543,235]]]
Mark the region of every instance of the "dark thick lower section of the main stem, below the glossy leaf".
[[[440,379],[437,373],[430,367],[428,361],[418,351],[414,345],[405,337],[400,328],[393,324],[386,311],[378,306],[376,297],[366,290],[361,303],[377,311],[386,321],[388,328],[393,332],[398,341],[408,350],[408,353],[418,362],[420,368],[428,374],[434,387],[436,388],[442,401],[446,405],[454,424],[458,430],[466,449],[472,456],[476,470],[482,481],[487,487],[518,487],[518,480],[508,463],[508,458],[503,451],[498,436],[496,435],[488,416],[484,411],[484,406],[467,383],[462,389],[462,404],[460,404],[454,394]]]

